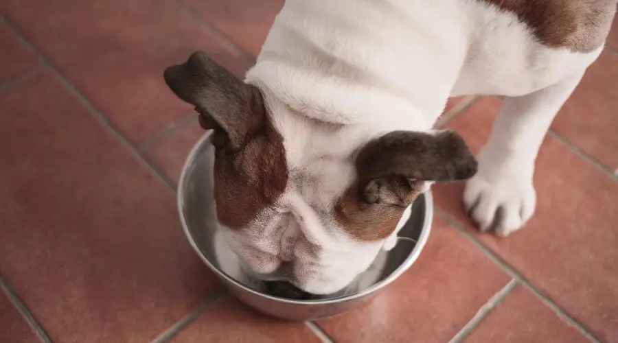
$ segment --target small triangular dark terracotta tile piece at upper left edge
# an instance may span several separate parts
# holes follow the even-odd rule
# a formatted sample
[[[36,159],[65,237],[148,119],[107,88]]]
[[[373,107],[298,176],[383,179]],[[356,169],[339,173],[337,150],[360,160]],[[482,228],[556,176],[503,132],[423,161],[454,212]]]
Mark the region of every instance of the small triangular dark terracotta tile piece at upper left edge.
[[[1,19],[0,51],[0,84],[41,65],[41,61],[19,41]]]

